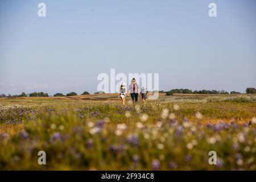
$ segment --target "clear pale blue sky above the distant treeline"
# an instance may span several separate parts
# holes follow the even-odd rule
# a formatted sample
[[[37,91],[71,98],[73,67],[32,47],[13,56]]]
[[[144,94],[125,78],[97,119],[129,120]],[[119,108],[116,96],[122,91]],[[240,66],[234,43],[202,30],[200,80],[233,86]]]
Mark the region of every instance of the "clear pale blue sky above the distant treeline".
[[[159,73],[160,90],[245,92],[256,87],[255,8],[254,0],[0,0],[0,94],[96,92],[110,68]]]

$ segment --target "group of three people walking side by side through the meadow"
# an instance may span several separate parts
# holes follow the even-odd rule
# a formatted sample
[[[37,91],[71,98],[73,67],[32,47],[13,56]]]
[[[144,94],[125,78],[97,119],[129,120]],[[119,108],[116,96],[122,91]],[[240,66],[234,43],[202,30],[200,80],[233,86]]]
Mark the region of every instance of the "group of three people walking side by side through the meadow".
[[[131,79],[131,84],[129,85],[129,89],[126,89],[126,85],[123,82],[119,89],[119,97],[121,97],[121,100],[123,102],[123,105],[125,105],[126,96],[129,96],[129,93],[131,95],[131,99],[133,102],[138,102],[138,97],[141,95],[141,99],[146,104],[146,100],[148,99],[148,92],[146,87],[143,86],[141,89],[141,92],[139,92],[139,85],[137,84],[135,78]]]

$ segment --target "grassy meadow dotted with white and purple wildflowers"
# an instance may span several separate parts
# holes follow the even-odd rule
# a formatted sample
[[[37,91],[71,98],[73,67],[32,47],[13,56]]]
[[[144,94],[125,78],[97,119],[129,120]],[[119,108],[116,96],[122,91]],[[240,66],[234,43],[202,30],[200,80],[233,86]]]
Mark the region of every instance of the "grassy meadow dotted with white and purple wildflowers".
[[[255,116],[254,94],[0,98],[0,169],[256,170]]]

